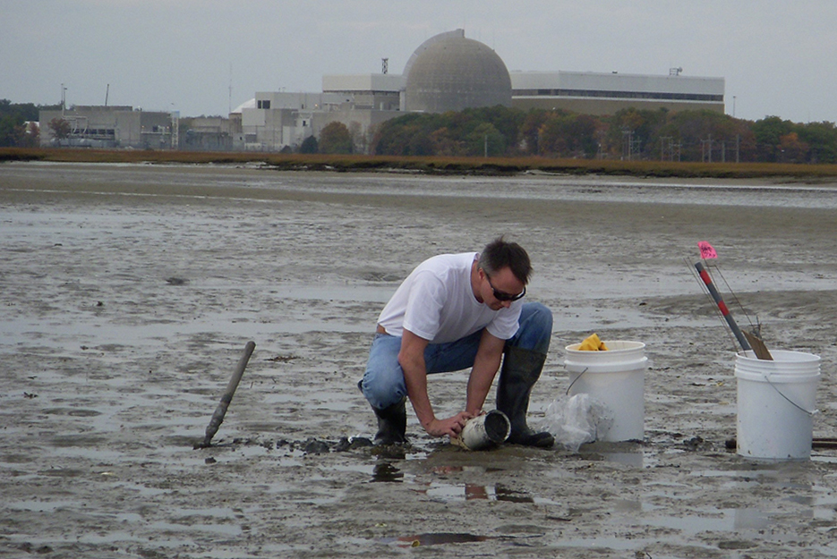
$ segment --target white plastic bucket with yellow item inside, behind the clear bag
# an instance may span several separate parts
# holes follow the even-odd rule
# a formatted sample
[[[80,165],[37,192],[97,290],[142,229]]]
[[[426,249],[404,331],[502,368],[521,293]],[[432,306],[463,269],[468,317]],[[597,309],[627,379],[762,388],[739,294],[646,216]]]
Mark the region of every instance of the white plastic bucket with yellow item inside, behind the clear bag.
[[[599,440],[642,440],[645,430],[645,343],[605,341],[607,351],[581,351],[568,345],[564,366],[569,395],[590,394],[613,413],[613,425]]]

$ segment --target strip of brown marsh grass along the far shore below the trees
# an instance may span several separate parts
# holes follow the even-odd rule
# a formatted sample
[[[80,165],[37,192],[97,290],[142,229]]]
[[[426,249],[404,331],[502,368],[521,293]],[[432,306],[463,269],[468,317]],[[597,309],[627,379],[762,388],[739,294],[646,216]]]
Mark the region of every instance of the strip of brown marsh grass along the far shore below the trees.
[[[683,163],[546,157],[391,157],[263,152],[0,148],[0,163],[10,161],[257,165],[278,171],[425,175],[601,174],[640,178],[773,179],[776,182],[815,183],[833,182],[837,178],[837,165]]]

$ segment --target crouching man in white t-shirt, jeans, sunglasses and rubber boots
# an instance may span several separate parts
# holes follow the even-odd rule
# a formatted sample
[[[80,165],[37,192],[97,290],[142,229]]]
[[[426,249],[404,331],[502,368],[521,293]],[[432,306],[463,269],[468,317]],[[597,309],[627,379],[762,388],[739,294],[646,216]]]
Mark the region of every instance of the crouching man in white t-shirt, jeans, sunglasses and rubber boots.
[[[526,251],[500,237],[481,253],[429,258],[407,276],[380,313],[358,383],[378,418],[376,444],[406,442],[407,397],[429,435],[457,436],[483,411],[502,360],[497,409],[511,421],[508,442],[553,445],[549,433],[526,425],[552,334],[551,311],[523,301],[531,273]],[[437,418],[427,375],[465,368],[471,368],[465,410]]]

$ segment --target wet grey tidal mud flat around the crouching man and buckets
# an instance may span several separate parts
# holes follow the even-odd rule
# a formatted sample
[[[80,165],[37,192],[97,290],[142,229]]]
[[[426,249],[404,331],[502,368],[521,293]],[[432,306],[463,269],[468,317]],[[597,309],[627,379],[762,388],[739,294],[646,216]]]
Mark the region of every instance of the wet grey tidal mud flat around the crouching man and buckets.
[[[828,184],[0,165],[0,556],[835,556],[837,450],[727,447],[734,340],[691,268],[711,241],[739,323],[822,357],[835,437],[835,223]],[[555,315],[530,423],[596,332],[646,343],[642,441],[470,453],[411,413],[411,446],[368,444],[383,304],[500,233]],[[431,377],[438,414],[465,380]]]

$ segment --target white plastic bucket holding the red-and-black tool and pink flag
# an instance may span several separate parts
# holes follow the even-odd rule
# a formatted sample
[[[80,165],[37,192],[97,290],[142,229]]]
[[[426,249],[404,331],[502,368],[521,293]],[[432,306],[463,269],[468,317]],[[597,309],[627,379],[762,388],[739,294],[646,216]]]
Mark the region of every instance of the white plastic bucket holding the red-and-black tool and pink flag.
[[[807,460],[811,456],[820,358],[800,351],[736,355],[738,453],[747,458]]]

